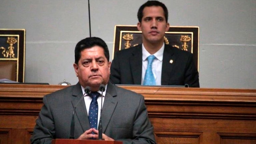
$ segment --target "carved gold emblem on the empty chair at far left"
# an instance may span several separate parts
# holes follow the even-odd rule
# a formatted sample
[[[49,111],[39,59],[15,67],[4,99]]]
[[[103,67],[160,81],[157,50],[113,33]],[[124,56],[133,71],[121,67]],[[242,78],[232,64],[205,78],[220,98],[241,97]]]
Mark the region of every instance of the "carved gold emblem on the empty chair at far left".
[[[6,58],[15,58],[15,54],[14,54],[14,46],[13,44],[15,44],[17,42],[17,39],[15,39],[14,37],[8,37],[7,38],[7,43],[9,43],[9,47],[8,50],[6,51],[6,49],[4,47],[0,47],[0,49],[3,49],[2,55]]]

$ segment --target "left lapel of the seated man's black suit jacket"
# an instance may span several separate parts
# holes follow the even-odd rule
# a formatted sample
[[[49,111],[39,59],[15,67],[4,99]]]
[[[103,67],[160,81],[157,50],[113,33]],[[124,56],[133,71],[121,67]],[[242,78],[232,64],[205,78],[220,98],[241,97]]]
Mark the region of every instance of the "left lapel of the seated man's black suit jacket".
[[[130,59],[131,73],[135,85],[141,84],[142,73],[142,45],[134,47]]]

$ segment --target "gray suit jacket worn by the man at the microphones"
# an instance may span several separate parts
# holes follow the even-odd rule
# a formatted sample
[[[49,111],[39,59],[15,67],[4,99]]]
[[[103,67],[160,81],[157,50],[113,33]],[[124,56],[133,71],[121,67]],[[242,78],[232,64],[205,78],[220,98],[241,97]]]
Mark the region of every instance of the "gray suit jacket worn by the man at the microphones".
[[[69,139],[73,107],[82,95],[81,85],[77,83],[44,96],[31,143],[51,144],[52,139]],[[90,129],[84,100],[77,104],[74,120],[77,139]],[[124,144],[155,143],[144,97],[111,83],[108,83],[102,108],[102,130]]]

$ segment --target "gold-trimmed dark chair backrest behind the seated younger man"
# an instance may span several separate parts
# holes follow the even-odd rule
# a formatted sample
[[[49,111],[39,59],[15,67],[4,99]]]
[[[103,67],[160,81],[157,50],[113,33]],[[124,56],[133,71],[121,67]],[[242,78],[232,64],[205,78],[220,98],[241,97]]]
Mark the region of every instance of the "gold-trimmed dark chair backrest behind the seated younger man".
[[[116,25],[114,31],[113,58],[116,51],[142,43],[142,32],[136,25]],[[165,43],[191,52],[199,71],[199,27],[171,26],[165,35]]]

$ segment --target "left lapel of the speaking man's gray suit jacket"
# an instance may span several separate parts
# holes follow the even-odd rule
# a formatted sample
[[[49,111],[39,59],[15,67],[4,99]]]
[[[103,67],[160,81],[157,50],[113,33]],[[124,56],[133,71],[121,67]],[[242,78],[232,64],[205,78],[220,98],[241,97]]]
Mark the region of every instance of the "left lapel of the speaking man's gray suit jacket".
[[[74,98],[71,102],[72,102],[73,107],[77,104],[76,109],[75,109],[75,115],[77,116],[83,131],[86,131],[86,130],[90,129],[90,126],[89,126],[88,115],[86,112],[86,106],[85,106],[82,96],[83,96],[83,92],[81,89],[81,85],[77,83],[73,90]],[[81,98],[82,98],[82,100],[80,100]],[[79,100],[80,100],[80,102],[79,102]],[[77,103],[77,102],[79,102],[79,103]],[[75,124],[78,124],[78,123],[75,123]]]

